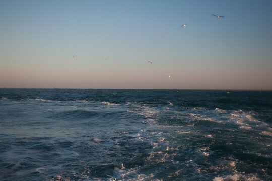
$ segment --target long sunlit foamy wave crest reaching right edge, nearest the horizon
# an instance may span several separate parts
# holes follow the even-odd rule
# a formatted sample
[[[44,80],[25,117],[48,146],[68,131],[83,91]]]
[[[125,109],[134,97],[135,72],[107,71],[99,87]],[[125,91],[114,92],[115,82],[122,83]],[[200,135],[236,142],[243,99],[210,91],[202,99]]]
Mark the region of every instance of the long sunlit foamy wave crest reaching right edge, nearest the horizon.
[[[269,124],[254,118],[252,111],[224,110],[220,108],[207,109],[204,107],[178,107],[178,106],[157,106],[141,105],[139,103],[128,102],[125,104],[128,112],[142,115],[154,123],[168,126],[186,125],[210,125],[213,123],[224,125],[238,125],[240,129],[269,129]]]

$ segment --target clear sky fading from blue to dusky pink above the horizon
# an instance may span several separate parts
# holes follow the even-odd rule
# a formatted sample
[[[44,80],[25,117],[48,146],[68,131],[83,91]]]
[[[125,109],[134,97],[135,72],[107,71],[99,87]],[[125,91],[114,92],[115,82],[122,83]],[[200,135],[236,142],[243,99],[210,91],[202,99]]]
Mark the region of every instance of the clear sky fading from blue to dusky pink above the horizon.
[[[271,17],[270,0],[0,0],[0,88],[272,90]]]

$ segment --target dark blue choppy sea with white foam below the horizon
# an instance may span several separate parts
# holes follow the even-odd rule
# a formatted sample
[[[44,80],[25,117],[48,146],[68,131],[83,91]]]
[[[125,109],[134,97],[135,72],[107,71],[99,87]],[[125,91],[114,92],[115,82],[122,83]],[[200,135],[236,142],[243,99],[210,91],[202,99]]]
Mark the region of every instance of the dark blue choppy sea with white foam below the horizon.
[[[0,89],[0,180],[272,180],[271,91]]]

